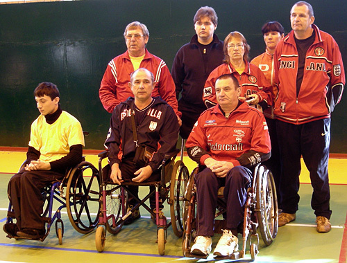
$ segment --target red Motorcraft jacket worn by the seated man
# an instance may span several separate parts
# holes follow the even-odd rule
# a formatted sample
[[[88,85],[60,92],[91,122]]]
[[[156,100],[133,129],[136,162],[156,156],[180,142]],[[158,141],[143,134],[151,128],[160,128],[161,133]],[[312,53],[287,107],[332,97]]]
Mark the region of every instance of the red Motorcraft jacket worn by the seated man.
[[[226,118],[216,105],[201,114],[185,144],[196,163],[212,157],[235,166],[252,167],[271,156],[271,143],[262,113],[240,102]]]

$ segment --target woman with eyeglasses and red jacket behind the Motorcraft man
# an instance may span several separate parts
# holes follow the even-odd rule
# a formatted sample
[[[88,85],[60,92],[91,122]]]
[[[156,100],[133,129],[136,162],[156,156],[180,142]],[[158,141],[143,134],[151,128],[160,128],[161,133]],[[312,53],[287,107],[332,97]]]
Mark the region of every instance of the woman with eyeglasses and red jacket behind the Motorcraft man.
[[[224,39],[224,60],[221,66],[212,71],[205,82],[203,101],[210,108],[217,104],[214,84],[223,74],[235,75],[241,87],[240,100],[246,100],[249,105],[254,105],[260,110],[272,105],[273,89],[266,80],[264,73],[255,65],[248,62],[251,47],[246,38],[237,31],[230,32]]]

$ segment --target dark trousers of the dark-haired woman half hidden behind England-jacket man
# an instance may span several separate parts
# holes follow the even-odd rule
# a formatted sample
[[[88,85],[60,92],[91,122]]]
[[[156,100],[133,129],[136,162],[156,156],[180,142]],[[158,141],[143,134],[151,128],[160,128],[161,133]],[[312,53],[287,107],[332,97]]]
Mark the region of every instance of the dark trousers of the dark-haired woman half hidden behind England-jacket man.
[[[280,199],[280,176],[281,176],[281,161],[280,161],[280,148],[278,147],[278,138],[276,132],[276,120],[266,118],[267,126],[269,127],[269,134],[271,139],[271,157],[269,160],[264,161],[262,164],[271,170],[273,174],[273,180],[275,181],[277,190],[277,202],[279,208],[281,207]]]

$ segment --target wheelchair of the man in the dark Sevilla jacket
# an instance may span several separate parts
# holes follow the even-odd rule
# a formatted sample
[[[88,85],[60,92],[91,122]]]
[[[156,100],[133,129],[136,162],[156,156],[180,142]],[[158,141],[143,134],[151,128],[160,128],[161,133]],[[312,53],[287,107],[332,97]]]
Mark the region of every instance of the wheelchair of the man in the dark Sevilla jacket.
[[[176,161],[175,158],[179,150],[172,154],[167,154],[162,160],[160,169],[160,181],[151,182],[124,182],[117,185],[112,182],[107,176],[101,176],[100,185],[100,204],[99,210],[99,226],[96,228],[95,244],[96,250],[102,252],[105,248],[106,230],[112,235],[119,233],[124,226],[124,221],[127,217],[139,208],[144,207],[151,213],[151,217],[155,218],[157,225],[157,243],[158,253],[164,255],[165,243],[167,239],[167,228],[172,226],[177,237],[183,235],[183,210],[184,210],[184,192],[188,182],[189,172],[183,161]],[[102,160],[108,156],[108,152],[99,154],[99,171],[102,174]],[[130,192],[129,185],[149,186],[154,185],[155,190],[140,200]],[[155,212],[146,205],[145,201],[155,194],[156,209]],[[133,208],[128,208],[128,197],[132,196],[137,201],[137,205]],[[167,200],[170,206],[171,221],[167,221],[164,213],[159,210],[159,200]]]

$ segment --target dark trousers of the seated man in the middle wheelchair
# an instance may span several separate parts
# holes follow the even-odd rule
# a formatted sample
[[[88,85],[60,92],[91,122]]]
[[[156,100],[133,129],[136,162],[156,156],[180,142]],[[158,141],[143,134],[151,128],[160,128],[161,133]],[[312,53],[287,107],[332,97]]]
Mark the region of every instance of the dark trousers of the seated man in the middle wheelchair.
[[[134,174],[137,170],[139,170],[139,167],[137,167],[133,160],[127,160],[123,159],[121,160],[121,164],[119,165],[119,169],[121,170],[121,178],[126,182],[131,182],[131,179],[135,178],[137,175]],[[160,170],[153,171],[149,179],[147,179],[145,182],[151,182],[151,181],[160,181]],[[135,197],[139,197],[139,187],[137,185],[128,185],[128,189],[130,192],[132,192]],[[155,190],[154,185],[149,186],[149,190],[153,191]],[[136,201],[132,197],[129,196],[128,199],[129,205],[135,206]],[[149,197],[149,203],[150,207],[153,210],[155,208],[155,194],[153,194],[151,197]],[[162,203],[160,202],[160,208],[163,208]]]

